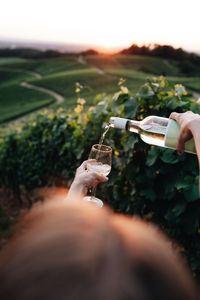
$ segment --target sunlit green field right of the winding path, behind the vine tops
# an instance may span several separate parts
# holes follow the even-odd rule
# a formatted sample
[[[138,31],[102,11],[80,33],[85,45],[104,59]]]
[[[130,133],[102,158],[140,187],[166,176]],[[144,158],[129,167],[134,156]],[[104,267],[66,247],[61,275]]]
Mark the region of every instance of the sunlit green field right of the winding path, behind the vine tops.
[[[93,100],[97,94],[107,93],[113,94],[118,89],[118,82],[121,74],[106,73],[99,74],[95,68],[87,68],[81,70],[71,70],[45,76],[41,80],[34,80],[33,83],[53,89],[65,97],[62,104],[64,108],[73,109],[76,105],[76,82],[83,85],[80,96],[87,100],[87,105],[93,105]],[[135,93],[138,88],[145,82],[146,74],[138,78],[127,78],[126,86]],[[134,83],[133,83],[134,81]]]

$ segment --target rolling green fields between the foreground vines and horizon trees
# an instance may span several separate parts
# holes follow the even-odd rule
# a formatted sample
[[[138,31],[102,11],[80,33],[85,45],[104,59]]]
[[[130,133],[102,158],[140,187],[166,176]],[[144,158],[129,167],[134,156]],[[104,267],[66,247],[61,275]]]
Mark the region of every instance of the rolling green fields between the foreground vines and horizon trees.
[[[184,84],[192,92],[200,92],[200,78],[184,77],[175,61],[145,56],[76,56],[65,55],[51,59],[0,58],[0,123],[5,123],[50,105],[71,111],[78,96],[86,99],[86,107],[93,105],[95,96],[118,90],[120,77],[134,94],[147,77],[165,75],[174,83]],[[36,88],[22,86],[27,82]],[[83,89],[75,93],[76,82]],[[43,87],[62,95],[63,101]],[[197,94],[196,94],[197,95]],[[62,102],[62,103],[61,103]]]

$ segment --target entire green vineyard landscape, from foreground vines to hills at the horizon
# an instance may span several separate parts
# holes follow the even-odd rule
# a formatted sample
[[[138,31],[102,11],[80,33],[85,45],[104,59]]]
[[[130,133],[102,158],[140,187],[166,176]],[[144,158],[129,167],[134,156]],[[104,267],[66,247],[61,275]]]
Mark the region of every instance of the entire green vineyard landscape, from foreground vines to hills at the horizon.
[[[0,51],[0,247],[20,210],[41,200],[36,190],[70,186],[111,116],[200,113],[199,56],[170,46],[155,50]],[[200,282],[196,156],[112,128],[105,143],[113,149],[112,170],[97,196],[167,232]]]

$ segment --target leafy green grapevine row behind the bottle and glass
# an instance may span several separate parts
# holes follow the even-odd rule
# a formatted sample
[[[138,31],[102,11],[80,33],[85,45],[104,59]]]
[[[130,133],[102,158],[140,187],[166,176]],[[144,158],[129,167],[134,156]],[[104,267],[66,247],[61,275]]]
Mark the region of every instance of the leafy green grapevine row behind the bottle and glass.
[[[20,132],[7,135],[0,145],[1,185],[20,200],[22,191],[52,184],[52,178],[70,181],[76,167],[87,159],[90,147],[111,116],[141,120],[148,115],[168,117],[172,111],[200,113],[182,85],[162,76],[148,80],[136,96],[119,82],[119,92],[95,99],[87,113],[76,86],[78,109],[69,115],[59,109],[28,121]],[[97,193],[115,211],[139,215],[158,224],[185,249],[188,262],[200,278],[200,205],[195,155],[143,143],[137,135],[110,129],[105,143],[113,148],[113,167],[107,184]]]

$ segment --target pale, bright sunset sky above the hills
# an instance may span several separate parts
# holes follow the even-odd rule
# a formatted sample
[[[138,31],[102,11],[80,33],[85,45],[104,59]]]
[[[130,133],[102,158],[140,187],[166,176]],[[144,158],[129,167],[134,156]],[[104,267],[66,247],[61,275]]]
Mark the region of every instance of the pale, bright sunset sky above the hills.
[[[200,0],[0,0],[0,38],[200,52]]]

